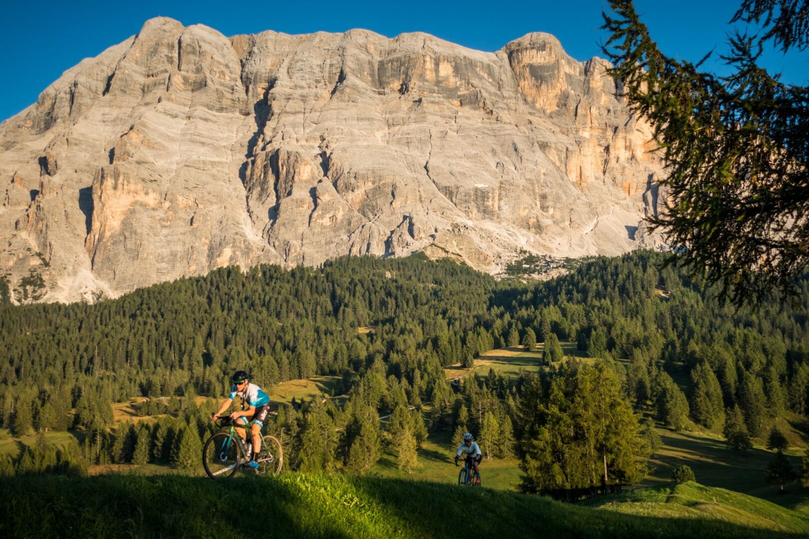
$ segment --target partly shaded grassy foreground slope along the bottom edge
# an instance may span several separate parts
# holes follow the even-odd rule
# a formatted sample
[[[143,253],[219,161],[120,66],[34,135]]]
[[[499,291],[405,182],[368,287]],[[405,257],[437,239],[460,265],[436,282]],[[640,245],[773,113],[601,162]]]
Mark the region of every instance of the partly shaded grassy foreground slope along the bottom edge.
[[[432,482],[105,475],[2,478],[2,537],[805,537],[796,512],[689,483],[597,507]],[[250,493],[249,497],[247,493]],[[260,503],[256,503],[260,500]],[[45,510],[47,509],[47,510]]]

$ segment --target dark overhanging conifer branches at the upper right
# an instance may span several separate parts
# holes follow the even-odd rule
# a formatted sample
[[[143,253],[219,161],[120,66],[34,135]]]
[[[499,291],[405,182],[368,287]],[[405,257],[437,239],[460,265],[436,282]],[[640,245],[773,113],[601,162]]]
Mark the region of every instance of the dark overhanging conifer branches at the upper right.
[[[795,291],[809,263],[807,87],[781,82],[759,59],[773,46],[807,48],[806,2],[743,0],[731,23],[759,33],[728,38],[723,77],[700,71],[708,57],[695,65],[663,54],[632,0],[609,5],[609,74],[649,122],[667,171],[666,211],[648,221],[693,276],[718,284],[720,300]]]

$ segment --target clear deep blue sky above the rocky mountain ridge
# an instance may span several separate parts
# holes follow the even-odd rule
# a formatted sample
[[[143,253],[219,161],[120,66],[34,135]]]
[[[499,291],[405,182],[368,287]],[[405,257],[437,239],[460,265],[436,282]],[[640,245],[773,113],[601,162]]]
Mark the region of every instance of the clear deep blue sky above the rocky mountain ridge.
[[[664,53],[697,61],[724,38],[738,0],[637,0],[637,10]],[[570,56],[599,54],[600,0],[544,2],[4,2],[0,6],[0,120],[15,115],[85,57],[138,33],[163,15],[202,23],[226,36],[275,30],[292,34],[366,28],[383,36],[428,32],[470,48],[495,51],[528,32],[549,32]],[[765,66],[786,82],[809,82],[809,53],[769,53]],[[722,65],[707,65],[722,72]]]

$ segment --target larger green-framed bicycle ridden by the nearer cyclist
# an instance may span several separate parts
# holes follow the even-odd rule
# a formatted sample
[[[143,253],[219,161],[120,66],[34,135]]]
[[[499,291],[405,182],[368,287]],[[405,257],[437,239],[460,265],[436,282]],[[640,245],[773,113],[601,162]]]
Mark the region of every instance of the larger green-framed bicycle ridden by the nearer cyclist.
[[[211,479],[233,477],[239,468],[248,461],[248,452],[241,437],[236,434],[233,420],[221,417],[216,422],[220,428],[231,427],[230,431],[217,432],[205,440],[202,448],[202,466]],[[247,425],[239,425],[247,427]],[[248,432],[248,436],[250,436]],[[281,442],[275,436],[262,436],[261,449],[256,457],[257,474],[281,473],[284,465],[284,452]]]

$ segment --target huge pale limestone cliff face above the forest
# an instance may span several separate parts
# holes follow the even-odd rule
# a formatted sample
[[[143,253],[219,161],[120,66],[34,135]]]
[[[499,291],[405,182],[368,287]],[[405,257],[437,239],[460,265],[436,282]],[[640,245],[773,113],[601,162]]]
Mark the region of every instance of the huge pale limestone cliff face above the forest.
[[[628,251],[660,166],[607,66],[541,33],[483,53],[151,19],[0,124],[0,275],[76,301],[227,264]]]

